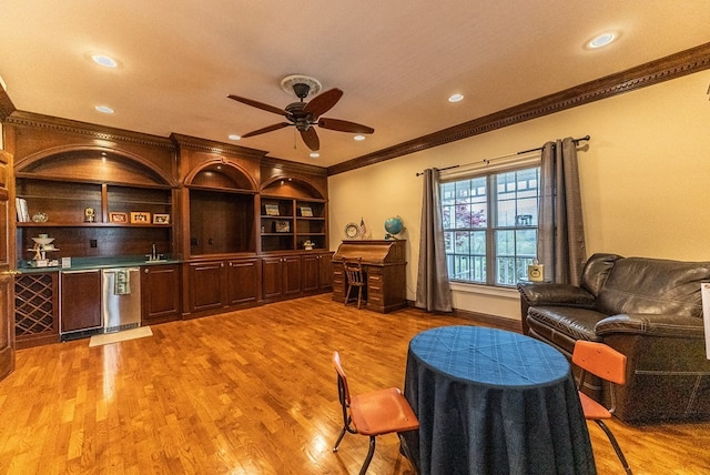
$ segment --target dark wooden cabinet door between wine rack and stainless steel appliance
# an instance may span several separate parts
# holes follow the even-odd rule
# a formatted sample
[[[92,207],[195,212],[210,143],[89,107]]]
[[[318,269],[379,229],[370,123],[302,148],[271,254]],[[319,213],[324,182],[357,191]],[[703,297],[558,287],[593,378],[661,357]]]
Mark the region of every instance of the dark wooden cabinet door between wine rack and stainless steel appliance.
[[[61,332],[101,327],[101,271],[70,271],[61,275]]]

